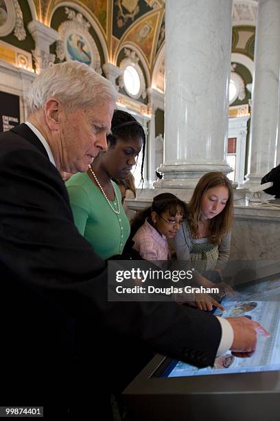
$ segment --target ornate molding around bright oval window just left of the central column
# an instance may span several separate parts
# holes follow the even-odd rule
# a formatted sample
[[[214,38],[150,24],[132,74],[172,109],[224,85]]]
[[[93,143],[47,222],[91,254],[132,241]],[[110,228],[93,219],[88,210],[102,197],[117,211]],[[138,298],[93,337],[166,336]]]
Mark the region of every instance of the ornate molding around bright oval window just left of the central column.
[[[140,98],[140,96],[145,99],[146,94],[146,85],[145,85],[145,77],[143,74],[143,71],[141,67],[139,66],[139,56],[137,56],[137,53],[134,50],[130,50],[129,48],[124,48],[124,54],[126,54],[126,58],[121,60],[121,63],[119,63],[119,68],[121,69],[121,75],[119,76],[119,87],[126,89],[126,85],[124,83],[124,71],[126,67],[132,66],[137,71],[137,74],[140,79],[140,89],[139,93],[137,95],[132,95],[130,92],[126,89],[127,94],[134,99]]]

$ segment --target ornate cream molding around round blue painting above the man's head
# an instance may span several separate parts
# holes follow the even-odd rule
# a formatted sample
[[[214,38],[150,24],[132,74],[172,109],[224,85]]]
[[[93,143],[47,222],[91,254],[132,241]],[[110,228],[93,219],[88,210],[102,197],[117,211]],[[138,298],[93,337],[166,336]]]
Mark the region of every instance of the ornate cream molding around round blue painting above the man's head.
[[[102,74],[100,54],[97,50],[93,37],[89,33],[91,23],[86,21],[80,12],[76,13],[74,10],[65,8],[65,13],[67,14],[67,18],[69,20],[62,22],[58,28],[59,39],[56,42],[56,56],[58,57],[58,60],[64,61],[65,58],[67,60],[77,59],[78,61],[93,67],[95,72]],[[72,35],[78,38],[78,51],[72,51],[70,53],[68,50],[69,37]],[[85,46],[88,51],[84,50]],[[75,58],[73,54],[77,53],[80,55]],[[84,57],[84,59],[82,57]]]

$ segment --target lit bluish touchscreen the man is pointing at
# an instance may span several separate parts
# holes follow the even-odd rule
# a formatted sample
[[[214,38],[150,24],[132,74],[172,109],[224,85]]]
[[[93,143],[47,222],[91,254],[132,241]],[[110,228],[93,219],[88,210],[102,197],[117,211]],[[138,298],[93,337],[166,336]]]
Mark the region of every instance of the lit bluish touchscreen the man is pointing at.
[[[222,301],[222,305],[226,310],[217,309],[215,315],[249,317],[261,323],[271,336],[258,336],[257,350],[250,358],[238,358],[228,352],[215,359],[214,367],[203,369],[173,360],[161,377],[280,370],[280,279],[250,285],[233,299]]]

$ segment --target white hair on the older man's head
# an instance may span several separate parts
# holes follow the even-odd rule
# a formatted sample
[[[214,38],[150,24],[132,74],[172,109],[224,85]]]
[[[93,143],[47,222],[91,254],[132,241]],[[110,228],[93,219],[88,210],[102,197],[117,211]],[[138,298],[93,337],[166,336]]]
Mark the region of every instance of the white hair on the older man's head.
[[[65,61],[44,69],[31,85],[28,113],[45,105],[54,97],[67,109],[90,108],[100,100],[117,100],[117,91],[110,80],[97,74],[93,68],[78,61]]]

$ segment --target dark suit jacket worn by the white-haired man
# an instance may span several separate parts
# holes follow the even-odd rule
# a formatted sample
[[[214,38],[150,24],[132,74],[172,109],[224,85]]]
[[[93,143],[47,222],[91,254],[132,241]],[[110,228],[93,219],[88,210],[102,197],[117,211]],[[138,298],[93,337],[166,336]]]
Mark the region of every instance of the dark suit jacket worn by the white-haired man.
[[[106,263],[75,228],[62,177],[24,124],[0,135],[0,267],[1,405],[67,407],[79,387],[79,320],[91,327],[98,376],[118,365],[122,338],[128,353],[127,344],[144,343],[199,367],[213,364],[221,329],[210,314],[107,301]]]

